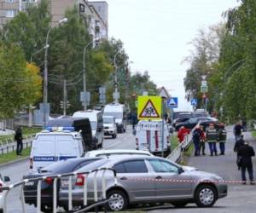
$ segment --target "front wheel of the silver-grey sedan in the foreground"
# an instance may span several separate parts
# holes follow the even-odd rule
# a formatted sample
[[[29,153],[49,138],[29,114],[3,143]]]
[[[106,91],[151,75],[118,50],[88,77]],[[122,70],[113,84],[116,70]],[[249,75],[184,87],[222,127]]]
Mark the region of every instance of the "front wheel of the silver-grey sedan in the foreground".
[[[195,192],[195,203],[198,207],[211,207],[217,200],[217,193],[214,187],[202,185]]]

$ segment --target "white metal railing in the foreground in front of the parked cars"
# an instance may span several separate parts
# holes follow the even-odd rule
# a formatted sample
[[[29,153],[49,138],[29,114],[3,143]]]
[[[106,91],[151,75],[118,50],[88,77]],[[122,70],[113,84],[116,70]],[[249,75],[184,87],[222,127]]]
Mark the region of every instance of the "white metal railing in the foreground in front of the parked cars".
[[[97,194],[97,172],[103,170],[102,172],[102,199],[100,200],[98,198]],[[81,173],[68,173],[68,174],[63,174],[63,175],[56,175],[56,176],[43,176],[43,177],[38,177],[38,178],[33,178],[33,179],[25,179],[23,181],[19,181],[13,185],[9,185],[7,187],[0,187],[1,190],[3,190],[3,213],[7,213],[7,197],[8,194],[11,190],[13,190],[16,187],[21,187],[20,188],[20,201],[21,201],[21,210],[23,213],[26,213],[26,205],[25,205],[25,197],[24,197],[24,192],[23,192],[23,187],[27,182],[32,182],[32,181],[38,181],[38,186],[37,186],[37,213],[41,213],[41,184],[42,181],[46,180],[47,178],[52,178],[53,179],[53,213],[57,212],[57,181],[61,180],[62,177],[68,177],[68,210],[73,210],[73,200],[72,200],[72,177],[73,176],[80,176],[83,175],[88,176],[91,173],[95,173],[94,180],[93,180],[93,188],[94,188],[94,201],[95,204],[92,204],[90,206],[87,206],[87,198],[88,198],[88,190],[87,190],[87,184],[85,181],[84,184],[84,206],[86,206],[83,210],[78,210],[78,211],[73,211],[76,213],[79,212],[84,212],[85,210],[90,210],[92,208],[96,208],[97,206],[107,204],[109,201],[115,200],[115,199],[107,199],[107,194],[106,194],[106,178],[105,178],[105,171],[110,170],[113,172],[113,178],[114,178],[114,183],[115,185],[117,184],[117,176],[116,172],[113,169],[109,168],[102,168],[102,169],[97,169],[97,170],[91,170],[88,172],[81,172]],[[105,209],[105,212],[107,210]]]

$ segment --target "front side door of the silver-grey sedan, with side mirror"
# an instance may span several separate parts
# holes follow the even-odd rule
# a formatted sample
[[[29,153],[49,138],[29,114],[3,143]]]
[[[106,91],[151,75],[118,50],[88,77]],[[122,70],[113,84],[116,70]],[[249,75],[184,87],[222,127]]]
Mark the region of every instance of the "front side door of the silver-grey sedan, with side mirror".
[[[184,198],[192,194],[191,177],[185,172],[179,173],[177,165],[164,159],[148,159],[154,170],[156,199]]]

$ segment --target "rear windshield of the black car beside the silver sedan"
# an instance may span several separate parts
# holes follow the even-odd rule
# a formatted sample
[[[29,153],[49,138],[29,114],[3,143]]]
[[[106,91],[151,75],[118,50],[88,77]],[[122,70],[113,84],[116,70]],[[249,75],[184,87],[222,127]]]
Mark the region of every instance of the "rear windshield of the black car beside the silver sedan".
[[[88,159],[86,161],[84,161],[83,159],[59,161],[59,162],[56,162],[55,164],[50,164],[49,166],[44,167],[42,170],[40,170],[39,173],[52,172],[55,174],[64,174],[64,173],[73,171],[73,169],[81,162],[83,162],[83,164],[86,165],[86,164],[93,163],[99,159],[100,158]]]

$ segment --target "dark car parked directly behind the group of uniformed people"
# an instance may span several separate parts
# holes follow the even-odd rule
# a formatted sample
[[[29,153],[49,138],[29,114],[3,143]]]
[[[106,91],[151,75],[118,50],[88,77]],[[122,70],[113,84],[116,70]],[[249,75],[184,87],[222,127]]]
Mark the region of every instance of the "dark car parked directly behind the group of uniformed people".
[[[204,130],[207,130],[207,127],[209,126],[209,124],[214,124],[216,127],[218,126],[218,121],[214,118],[209,118],[209,117],[195,117],[195,118],[189,118],[188,121],[186,122],[181,122],[176,124],[175,126],[175,130],[179,130],[182,126],[184,126],[185,128],[192,130],[196,124],[198,124],[200,122],[200,124],[204,127]]]

